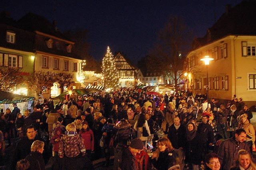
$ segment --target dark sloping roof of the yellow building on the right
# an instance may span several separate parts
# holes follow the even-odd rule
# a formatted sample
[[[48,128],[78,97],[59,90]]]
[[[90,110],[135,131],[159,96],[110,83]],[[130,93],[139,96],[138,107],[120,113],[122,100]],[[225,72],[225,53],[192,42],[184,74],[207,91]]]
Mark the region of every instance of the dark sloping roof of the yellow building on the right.
[[[206,31],[204,37],[194,39],[192,49],[211,43],[227,35],[256,35],[256,1],[244,0],[226,12]]]

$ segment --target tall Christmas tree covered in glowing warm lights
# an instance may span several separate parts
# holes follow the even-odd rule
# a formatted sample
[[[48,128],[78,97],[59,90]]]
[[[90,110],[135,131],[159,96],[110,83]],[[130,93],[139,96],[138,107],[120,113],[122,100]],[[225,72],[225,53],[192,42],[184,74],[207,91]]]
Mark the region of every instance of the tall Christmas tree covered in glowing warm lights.
[[[114,57],[110,51],[110,48],[107,48],[107,53],[102,59],[102,75],[104,81],[104,88],[117,88],[119,86],[119,76],[114,63]]]

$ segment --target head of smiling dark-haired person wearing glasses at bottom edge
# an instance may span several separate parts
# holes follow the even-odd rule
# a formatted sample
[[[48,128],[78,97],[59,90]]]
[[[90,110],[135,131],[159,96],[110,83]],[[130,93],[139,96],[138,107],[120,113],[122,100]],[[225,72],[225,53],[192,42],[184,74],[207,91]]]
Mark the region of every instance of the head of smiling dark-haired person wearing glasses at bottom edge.
[[[216,153],[209,153],[205,157],[205,170],[220,170],[220,161]]]

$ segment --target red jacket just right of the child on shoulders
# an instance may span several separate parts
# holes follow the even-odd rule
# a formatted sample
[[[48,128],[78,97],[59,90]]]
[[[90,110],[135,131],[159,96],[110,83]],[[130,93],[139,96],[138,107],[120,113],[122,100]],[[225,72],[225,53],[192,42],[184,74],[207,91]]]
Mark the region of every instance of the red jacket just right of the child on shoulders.
[[[84,131],[82,129],[79,133],[84,141],[84,146],[86,150],[94,150],[94,135],[91,129]]]

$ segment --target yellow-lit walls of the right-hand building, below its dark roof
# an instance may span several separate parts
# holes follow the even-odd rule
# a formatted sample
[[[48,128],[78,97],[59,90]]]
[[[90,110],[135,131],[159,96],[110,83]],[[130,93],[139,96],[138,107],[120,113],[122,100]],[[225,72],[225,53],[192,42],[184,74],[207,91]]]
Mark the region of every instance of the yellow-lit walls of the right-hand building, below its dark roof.
[[[256,36],[228,35],[188,53],[188,87],[206,93],[205,55],[208,65],[209,97],[230,100],[234,94],[244,101],[256,101]]]

